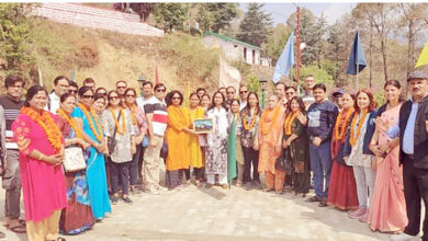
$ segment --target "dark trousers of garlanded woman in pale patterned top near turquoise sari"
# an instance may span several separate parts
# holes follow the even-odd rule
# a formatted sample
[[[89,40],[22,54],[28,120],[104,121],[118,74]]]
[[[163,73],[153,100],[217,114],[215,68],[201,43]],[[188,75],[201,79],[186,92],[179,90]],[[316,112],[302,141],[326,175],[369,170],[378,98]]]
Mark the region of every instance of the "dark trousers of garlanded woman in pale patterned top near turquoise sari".
[[[122,185],[122,194],[128,194],[128,185],[129,185],[129,161],[116,163],[110,162],[110,177],[112,184],[112,194],[116,194],[119,190],[119,185]],[[122,177],[122,182],[120,183],[120,179]]]

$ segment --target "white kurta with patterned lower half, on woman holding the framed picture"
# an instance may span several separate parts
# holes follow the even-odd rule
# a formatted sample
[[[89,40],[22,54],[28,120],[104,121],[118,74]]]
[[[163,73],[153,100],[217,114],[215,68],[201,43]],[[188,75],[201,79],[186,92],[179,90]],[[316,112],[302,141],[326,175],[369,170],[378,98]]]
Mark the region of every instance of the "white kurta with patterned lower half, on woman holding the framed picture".
[[[206,135],[205,174],[227,175],[227,112],[214,107],[207,116],[214,119],[214,133]]]

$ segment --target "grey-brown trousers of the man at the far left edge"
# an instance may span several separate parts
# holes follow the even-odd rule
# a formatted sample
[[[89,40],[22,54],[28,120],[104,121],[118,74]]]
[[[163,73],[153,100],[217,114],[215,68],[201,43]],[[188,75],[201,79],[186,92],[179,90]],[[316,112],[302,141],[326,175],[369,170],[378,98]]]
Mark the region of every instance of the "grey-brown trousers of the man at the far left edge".
[[[21,173],[18,150],[7,150],[5,152],[5,172],[2,177],[2,187],[5,190],[4,216],[16,219],[21,214]]]

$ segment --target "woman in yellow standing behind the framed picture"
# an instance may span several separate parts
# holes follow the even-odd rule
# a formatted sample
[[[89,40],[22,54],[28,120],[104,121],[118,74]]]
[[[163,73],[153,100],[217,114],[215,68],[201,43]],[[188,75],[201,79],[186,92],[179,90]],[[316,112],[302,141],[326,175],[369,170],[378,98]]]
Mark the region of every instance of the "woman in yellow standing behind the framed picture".
[[[196,93],[191,93],[189,99],[190,124],[192,125],[194,119],[204,117],[205,110],[199,106],[200,100]],[[196,134],[190,134],[189,138],[190,165],[193,168],[193,173],[195,174],[195,185],[200,186],[204,179],[204,162],[200,145],[200,136]]]

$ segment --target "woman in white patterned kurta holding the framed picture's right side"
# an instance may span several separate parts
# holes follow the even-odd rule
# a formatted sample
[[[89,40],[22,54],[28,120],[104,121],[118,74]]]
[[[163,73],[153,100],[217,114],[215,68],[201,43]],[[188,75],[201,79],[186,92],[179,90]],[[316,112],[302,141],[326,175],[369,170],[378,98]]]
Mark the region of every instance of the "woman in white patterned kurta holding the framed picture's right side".
[[[212,187],[215,183],[215,175],[218,175],[218,183],[223,188],[227,188],[227,128],[229,124],[225,97],[218,91],[213,95],[207,117],[214,120],[214,131],[206,135],[205,187]]]

